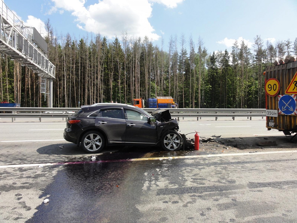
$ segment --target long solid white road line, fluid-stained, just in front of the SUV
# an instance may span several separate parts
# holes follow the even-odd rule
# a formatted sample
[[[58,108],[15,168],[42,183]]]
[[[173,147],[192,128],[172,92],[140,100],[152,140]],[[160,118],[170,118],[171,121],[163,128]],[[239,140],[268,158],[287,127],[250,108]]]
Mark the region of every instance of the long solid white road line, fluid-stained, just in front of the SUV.
[[[36,166],[53,166],[53,165],[68,165],[68,164],[86,164],[86,163],[108,163],[108,162],[127,162],[127,161],[146,161],[146,160],[165,160],[165,159],[182,159],[182,158],[203,158],[203,157],[218,157],[218,156],[245,156],[245,155],[259,155],[271,153],[296,153],[297,150],[290,151],[270,151],[258,153],[230,153],[230,154],[210,154],[210,155],[195,155],[195,156],[170,156],[170,157],[152,157],[152,158],[135,158],[135,159],[118,159],[118,160],[98,160],[98,161],[74,161],[74,162],[59,162],[59,163],[39,163],[39,164],[15,164],[15,165],[1,165],[0,168],[10,167],[36,167]],[[199,159],[197,160],[199,161]]]

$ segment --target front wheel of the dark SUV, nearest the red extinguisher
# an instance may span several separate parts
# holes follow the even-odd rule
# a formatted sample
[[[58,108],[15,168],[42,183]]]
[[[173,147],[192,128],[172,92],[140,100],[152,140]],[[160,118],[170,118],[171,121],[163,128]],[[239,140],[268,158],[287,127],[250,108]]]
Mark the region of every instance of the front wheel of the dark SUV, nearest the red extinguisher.
[[[169,130],[161,138],[161,146],[167,151],[177,151],[181,149],[183,139],[177,131]]]

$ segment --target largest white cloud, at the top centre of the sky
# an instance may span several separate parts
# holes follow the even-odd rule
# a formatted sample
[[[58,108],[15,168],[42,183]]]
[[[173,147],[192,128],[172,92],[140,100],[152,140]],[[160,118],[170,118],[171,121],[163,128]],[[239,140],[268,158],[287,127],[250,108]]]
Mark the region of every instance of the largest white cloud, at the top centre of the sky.
[[[100,33],[109,39],[127,32],[131,36],[158,40],[160,36],[149,23],[153,3],[174,8],[184,0],[100,0],[85,7],[85,0],[51,0],[51,12],[65,10],[75,16],[77,27],[87,32]],[[162,33],[162,32],[161,32]]]

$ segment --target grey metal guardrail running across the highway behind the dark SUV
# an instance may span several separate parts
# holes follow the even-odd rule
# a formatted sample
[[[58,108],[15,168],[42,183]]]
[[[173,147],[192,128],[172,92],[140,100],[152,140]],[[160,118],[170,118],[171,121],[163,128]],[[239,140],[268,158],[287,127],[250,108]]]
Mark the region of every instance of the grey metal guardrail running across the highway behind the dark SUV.
[[[39,118],[40,122],[42,118],[54,117],[54,118],[67,118],[69,113],[75,112],[80,108],[15,108],[15,107],[0,107],[0,112],[12,112],[12,113],[0,113],[0,118],[12,118],[12,122],[15,118]],[[152,112],[154,109],[143,109],[147,112]],[[171,113],[171,117],[183,118],[184,117],[197,117],[197,120],[201,117],[247,117],[252,120],[252,117],[264,117],[266,116],[265,109],[168,109]],[[33,113],[32,113],[33,112]],[[44,112],[62,112],[62,113],[44,113]]]

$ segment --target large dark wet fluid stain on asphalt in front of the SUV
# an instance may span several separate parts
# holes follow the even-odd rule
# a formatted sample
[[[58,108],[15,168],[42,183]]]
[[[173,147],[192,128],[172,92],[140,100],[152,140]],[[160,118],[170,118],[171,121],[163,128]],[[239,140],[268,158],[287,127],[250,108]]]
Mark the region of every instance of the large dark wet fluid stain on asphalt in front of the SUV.
[[[135,203],[142,184],[127,173],[132,163],[86,163],[61,167],[40,198],[50,202],[37,207],[26,222],[136,222]],[[129,175],[127,177],[127,174]],[[129,179],[129,181],[127,180]],[[129,190],[131,189],[131,190]],[[133,193],[132,193],[133,192]]]

